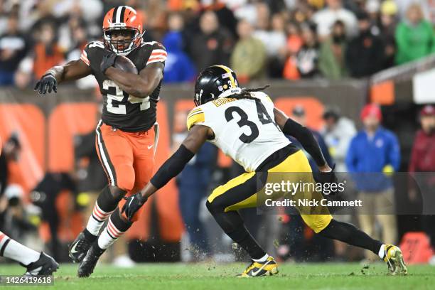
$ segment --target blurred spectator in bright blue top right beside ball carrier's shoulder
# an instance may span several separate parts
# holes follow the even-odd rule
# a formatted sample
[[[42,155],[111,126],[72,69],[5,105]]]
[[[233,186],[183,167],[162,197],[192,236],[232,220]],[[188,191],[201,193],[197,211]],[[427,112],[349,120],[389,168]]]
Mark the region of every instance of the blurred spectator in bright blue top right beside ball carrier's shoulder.
[[[163,37],[163,45],[168,52],[163,82],[188,82],[195,79],[195,65],[183,52],[183,18],[179,14],[172,14],[168,19],[169,31]]]

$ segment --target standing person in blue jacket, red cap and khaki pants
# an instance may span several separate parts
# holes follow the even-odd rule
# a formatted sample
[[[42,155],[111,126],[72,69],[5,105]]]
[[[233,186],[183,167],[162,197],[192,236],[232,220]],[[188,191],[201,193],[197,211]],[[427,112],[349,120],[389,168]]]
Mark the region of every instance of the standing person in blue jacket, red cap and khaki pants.
[[[380,126],[382,113],[376,104],[367,104],[361,112],[364,129],[352,141],[346,157],[348,171],[353,173],[359,198],[363,201],[359,222],[371,237],[395,243],[397,227],[395,215],[389,213],[394,205],[394,186],[390,178],[399,169],[400,151],[397,137]],[[375,232],[376,222],[382,227],[382,237]],[[371,253],[366,258],[371,259]]]

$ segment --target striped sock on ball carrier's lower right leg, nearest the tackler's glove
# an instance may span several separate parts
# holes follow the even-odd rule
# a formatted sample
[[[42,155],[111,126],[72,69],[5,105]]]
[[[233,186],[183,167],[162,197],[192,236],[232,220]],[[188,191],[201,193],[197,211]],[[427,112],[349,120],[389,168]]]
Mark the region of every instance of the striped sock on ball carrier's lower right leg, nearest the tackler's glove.
[[[100,237],[98,237],[98,247],[100,249],[107,249],[110,247],[119,237],[124,235],[132,225],[132,222],[125,222],[119,215],[119,210],[115,210],[110,215],[107,227],[102,231]]]

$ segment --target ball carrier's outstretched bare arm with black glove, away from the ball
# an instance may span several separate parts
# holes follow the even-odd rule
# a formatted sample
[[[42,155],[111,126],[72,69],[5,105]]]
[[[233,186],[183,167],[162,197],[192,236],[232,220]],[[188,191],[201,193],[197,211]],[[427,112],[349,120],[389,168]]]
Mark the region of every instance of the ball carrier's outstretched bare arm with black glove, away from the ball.
[[[65,65],[57,65],[47,70],[36,82],[34,90],[45,95],[47,92],[58,92],[58,83],[68,80],[78,80],[92,73],[91,68],[82,60],[72,60]]]

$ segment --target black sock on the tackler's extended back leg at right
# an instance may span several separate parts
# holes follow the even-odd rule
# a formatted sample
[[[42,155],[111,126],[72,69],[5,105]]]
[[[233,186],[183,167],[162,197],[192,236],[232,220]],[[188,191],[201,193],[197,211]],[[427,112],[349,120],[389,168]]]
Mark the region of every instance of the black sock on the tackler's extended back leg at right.
[[[382,246],[382,242],[372,239],[372,237],[362,230],[358,230],[354,225],[347,222],[338,222],[337,220],[331,220],[329,225],[318,234],[348,243],[349,245],[370,249],[375,254],[379,254],[380,247]]]

